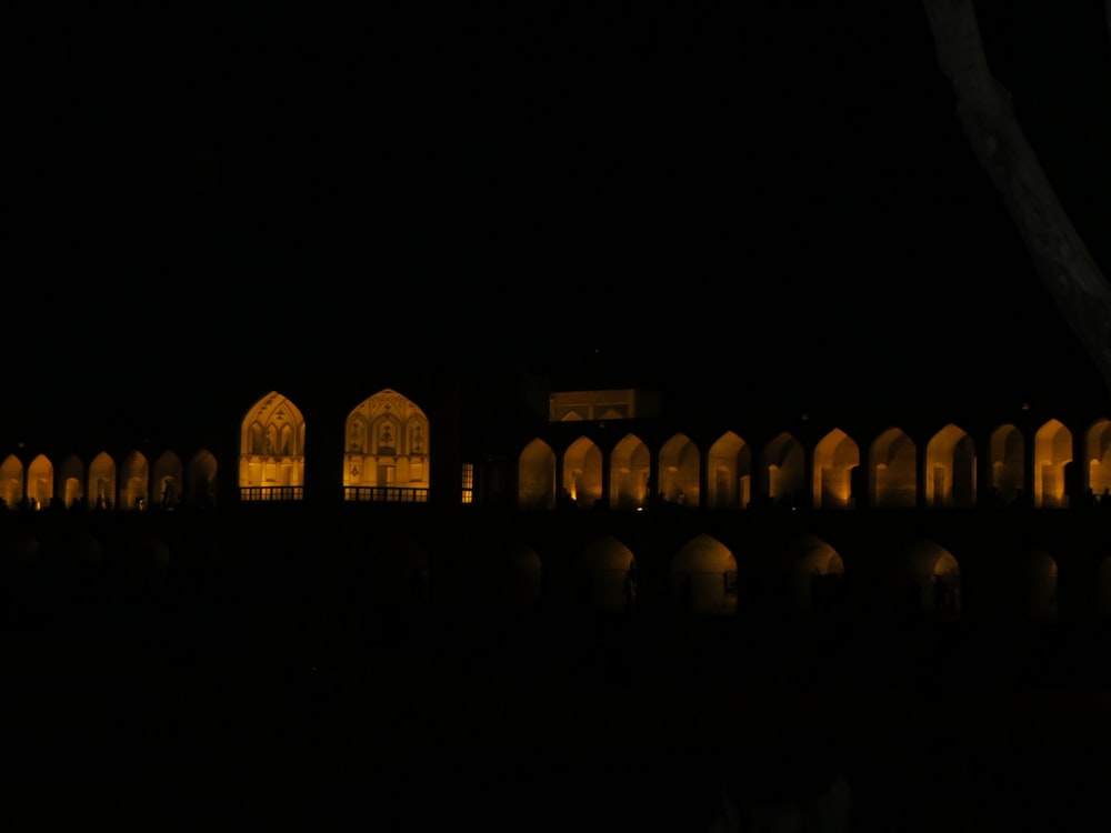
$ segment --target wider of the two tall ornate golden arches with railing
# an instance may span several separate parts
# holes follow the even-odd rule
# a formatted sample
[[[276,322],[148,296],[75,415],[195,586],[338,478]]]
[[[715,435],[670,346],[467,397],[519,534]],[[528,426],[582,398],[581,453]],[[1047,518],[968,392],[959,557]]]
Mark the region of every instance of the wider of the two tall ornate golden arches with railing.
[[[416,402],[387,388],[348,413],[344,431],[346,500],[428,501],[430,431]]]

